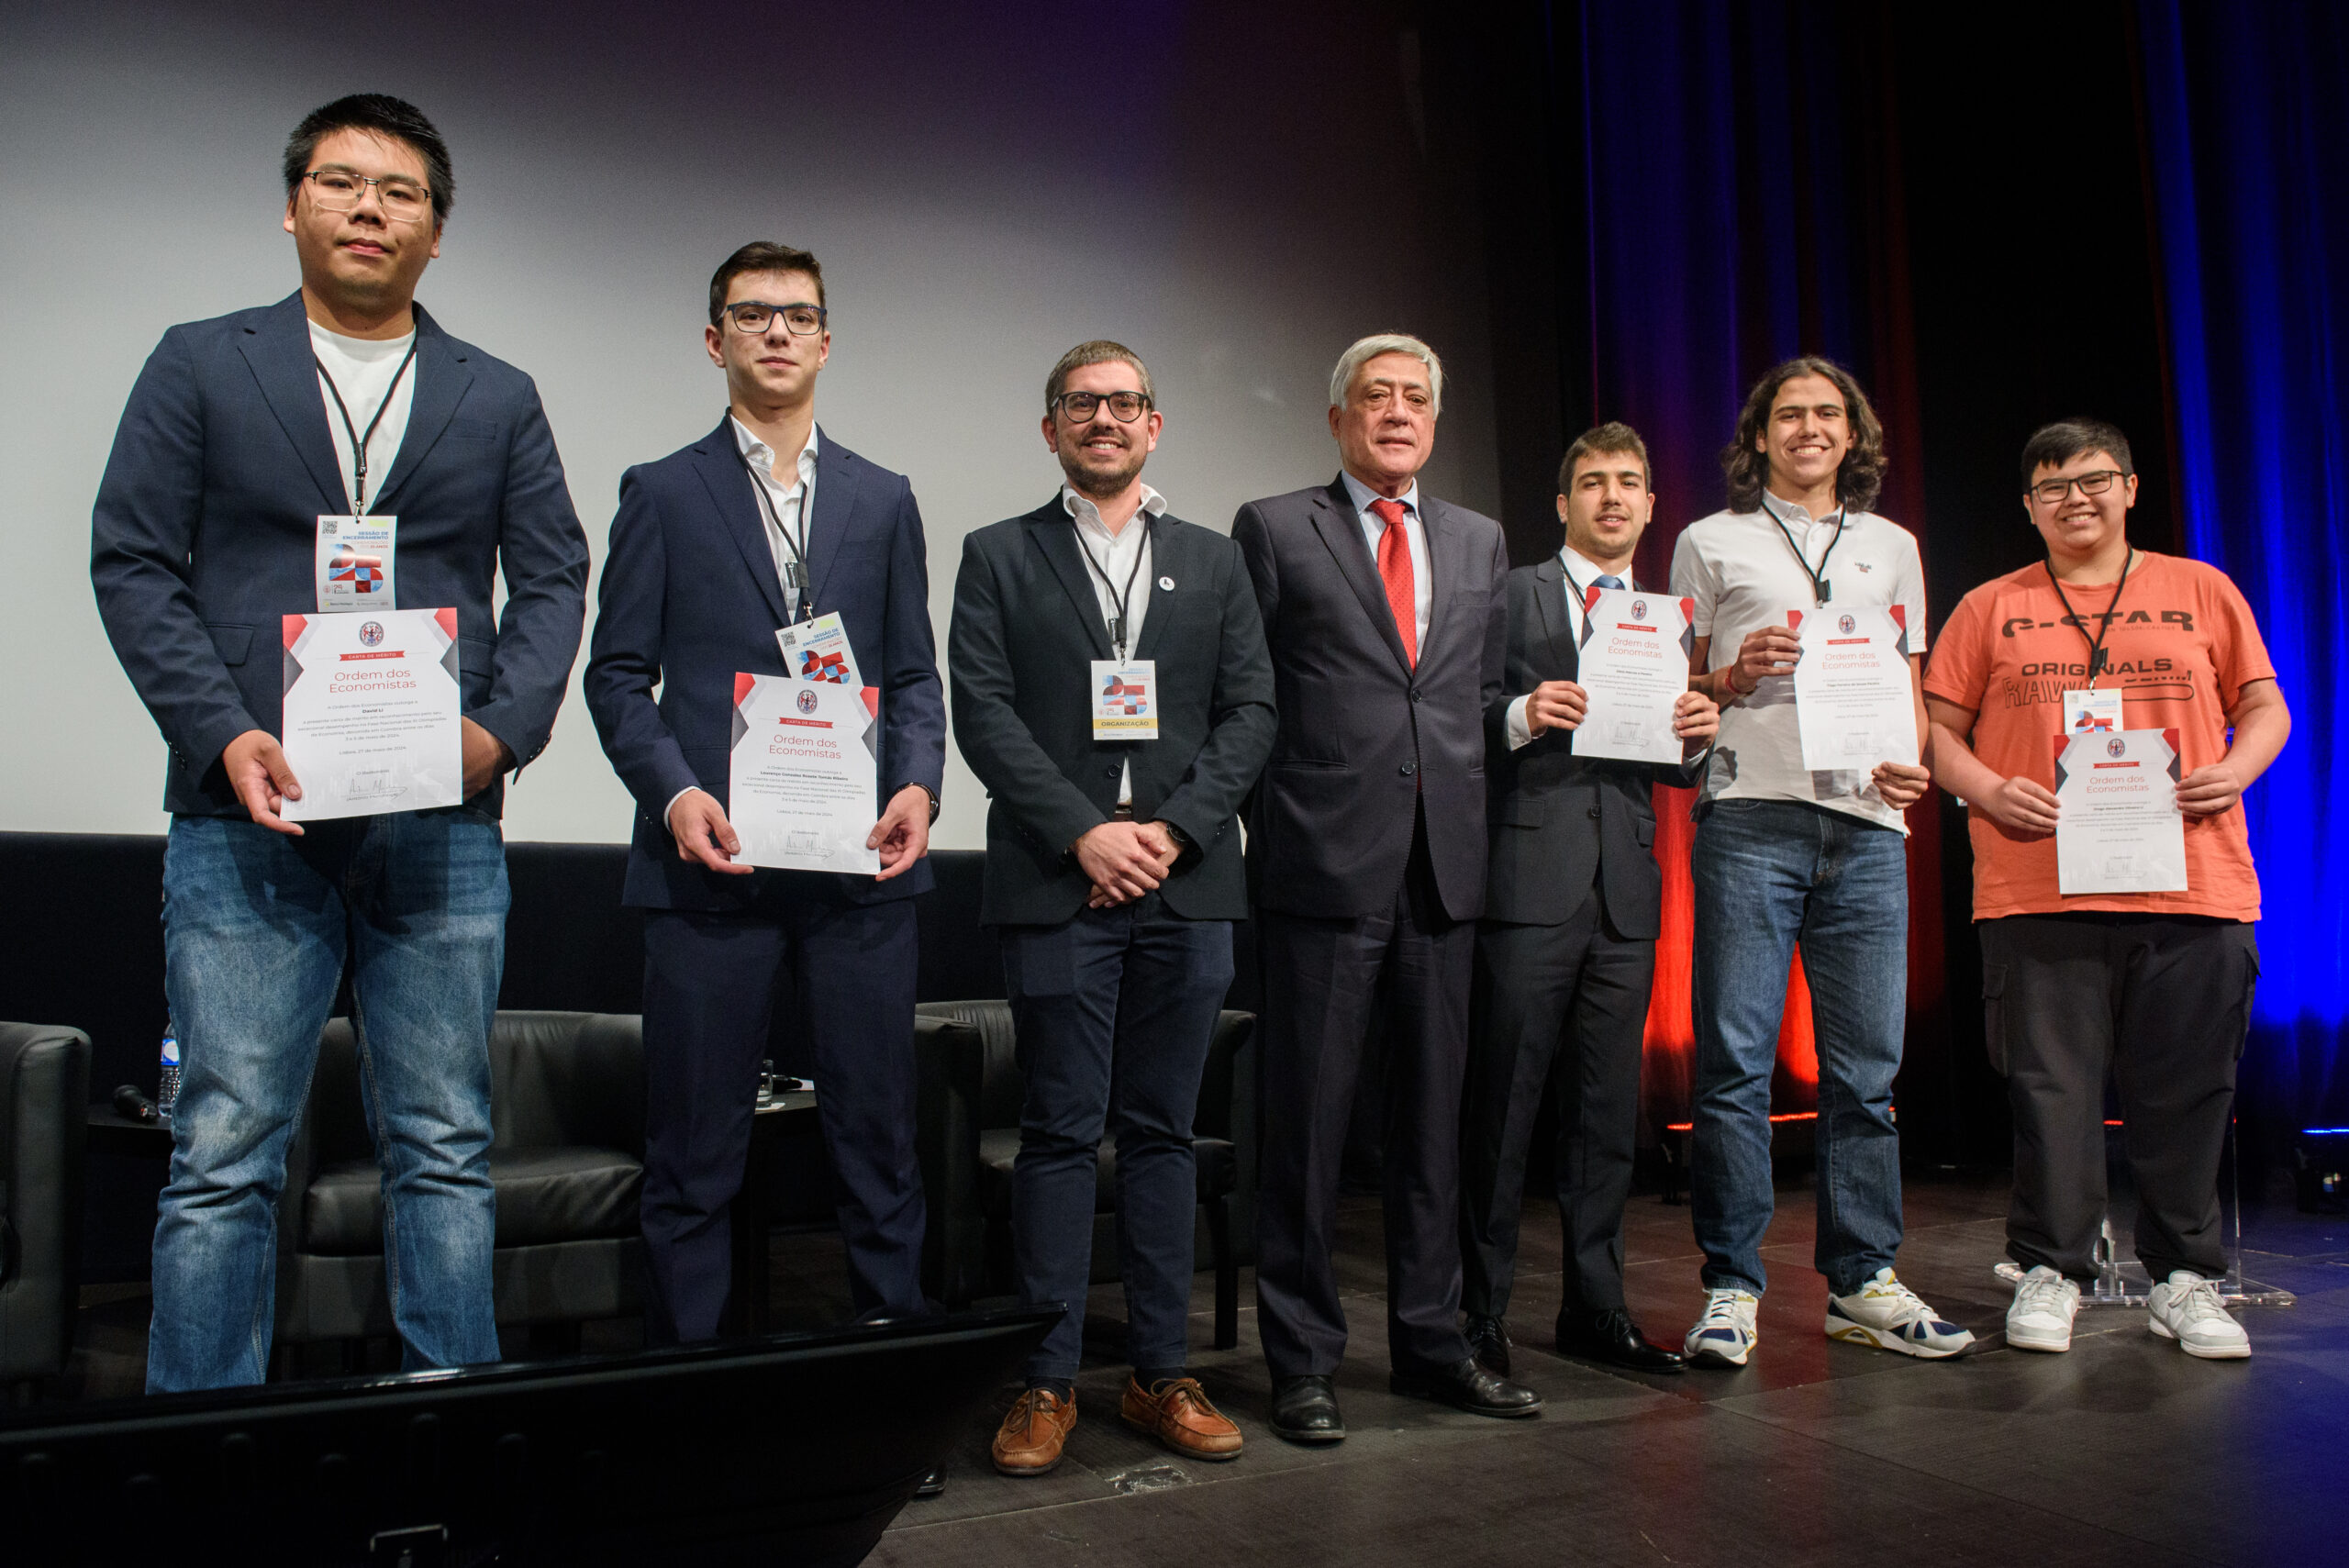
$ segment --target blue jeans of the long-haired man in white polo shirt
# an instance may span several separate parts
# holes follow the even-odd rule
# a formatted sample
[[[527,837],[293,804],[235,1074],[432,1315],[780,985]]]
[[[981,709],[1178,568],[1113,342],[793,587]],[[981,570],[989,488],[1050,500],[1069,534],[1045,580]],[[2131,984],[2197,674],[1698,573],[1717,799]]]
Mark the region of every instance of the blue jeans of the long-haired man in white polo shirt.
[[[1769,1082],[1795,944],[1818,1042],[1818,1272],[1849,1296],[1900,1251],[1893,1075],[1907,1026],[1907,840],[1792,800],[1715,800],[1696,883],[1696,1150],[1705,1289],[1762,1293]]]

